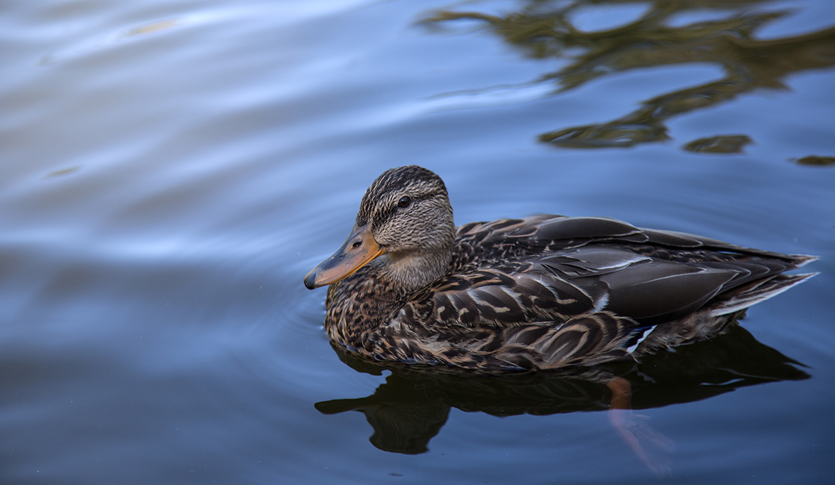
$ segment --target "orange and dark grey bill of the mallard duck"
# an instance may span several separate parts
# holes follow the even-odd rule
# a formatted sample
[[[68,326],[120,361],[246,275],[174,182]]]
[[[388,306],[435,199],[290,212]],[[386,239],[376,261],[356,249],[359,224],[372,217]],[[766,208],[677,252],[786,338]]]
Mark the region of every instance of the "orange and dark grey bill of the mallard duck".
[[[337,283],[385,252],[386,248],[374,240],[371,224],[365,224],[361,228],[357,228],[355,224],[342,248],[307,273],[305,286],[312,290]]]

